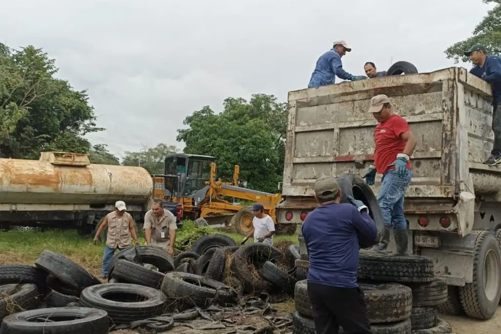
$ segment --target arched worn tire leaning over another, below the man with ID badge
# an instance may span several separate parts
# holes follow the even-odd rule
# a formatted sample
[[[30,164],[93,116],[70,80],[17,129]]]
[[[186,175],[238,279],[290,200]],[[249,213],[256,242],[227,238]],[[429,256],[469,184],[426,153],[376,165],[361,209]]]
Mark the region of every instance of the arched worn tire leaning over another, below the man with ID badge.
[[[125,259],[129,262],[148,263],[158,268],[160,272],[169,272],[174,270],[174,260],[162,247],[153,245],[130,246],[119,251],[113,256],[108,264],[108,277],[112,276],[115,262],[119,259]]]

